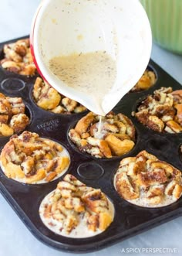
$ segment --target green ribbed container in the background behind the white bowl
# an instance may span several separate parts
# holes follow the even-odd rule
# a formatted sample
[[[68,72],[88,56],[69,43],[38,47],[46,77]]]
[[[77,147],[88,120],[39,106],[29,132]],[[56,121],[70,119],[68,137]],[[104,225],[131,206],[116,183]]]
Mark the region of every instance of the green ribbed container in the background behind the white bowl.
[[[140,0],[150,20],[154,42],[182,54],[182,0]]]

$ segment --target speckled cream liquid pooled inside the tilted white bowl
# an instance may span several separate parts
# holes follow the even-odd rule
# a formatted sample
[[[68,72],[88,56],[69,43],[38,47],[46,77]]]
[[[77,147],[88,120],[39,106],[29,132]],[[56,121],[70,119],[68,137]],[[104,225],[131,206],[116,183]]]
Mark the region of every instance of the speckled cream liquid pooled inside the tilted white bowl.
[[[116,61],[106,51],[56,56],[49,69],[67,86],[88,94],[101,106],[116,80]]]

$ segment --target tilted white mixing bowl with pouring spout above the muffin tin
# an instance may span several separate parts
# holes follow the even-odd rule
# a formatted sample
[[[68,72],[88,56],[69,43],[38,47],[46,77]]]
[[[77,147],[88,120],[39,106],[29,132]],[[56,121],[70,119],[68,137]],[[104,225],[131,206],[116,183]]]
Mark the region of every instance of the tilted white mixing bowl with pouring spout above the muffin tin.
[[[67,0],[60,4],[59,0],[45,0],[37,13],[31,38],[35,60],[45,80],[96,114],[110,112],[140,79],[150,59],[150,23],[140,2]],[[56,56],[96,51],[106,51],[116,62],[112,89],[100,99],[88,90],[67,86],[49,68],[49,60]],[[88,82],[93,78],[89,74]],[[109,79],[104,74],[101,77],[99,84],[104,87]]]

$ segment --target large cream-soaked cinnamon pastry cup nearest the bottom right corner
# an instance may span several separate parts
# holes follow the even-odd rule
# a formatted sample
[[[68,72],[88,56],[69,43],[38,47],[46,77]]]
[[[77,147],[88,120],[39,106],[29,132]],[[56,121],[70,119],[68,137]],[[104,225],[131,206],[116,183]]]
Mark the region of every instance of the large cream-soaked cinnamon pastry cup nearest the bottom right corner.
[[[182,193],[180,170],[146,151],[120,162],[114,178],[117,193],[140,207],[163,207]]]

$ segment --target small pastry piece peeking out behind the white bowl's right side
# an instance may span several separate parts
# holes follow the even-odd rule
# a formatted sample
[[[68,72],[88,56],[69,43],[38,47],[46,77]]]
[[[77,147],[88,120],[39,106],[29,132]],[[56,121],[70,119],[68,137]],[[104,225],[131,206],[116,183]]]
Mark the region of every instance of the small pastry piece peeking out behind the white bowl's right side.
[[[145,70],[143,76],[137,82],[137,84],[130,90],[130,92],[136,92],[140,90],[147,90],[156,83],[156,75],[153,71]]]

